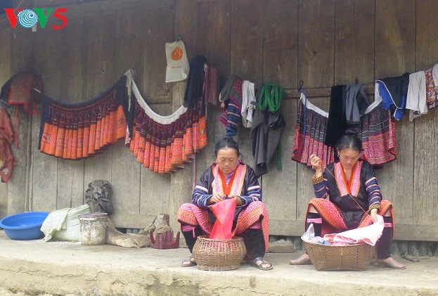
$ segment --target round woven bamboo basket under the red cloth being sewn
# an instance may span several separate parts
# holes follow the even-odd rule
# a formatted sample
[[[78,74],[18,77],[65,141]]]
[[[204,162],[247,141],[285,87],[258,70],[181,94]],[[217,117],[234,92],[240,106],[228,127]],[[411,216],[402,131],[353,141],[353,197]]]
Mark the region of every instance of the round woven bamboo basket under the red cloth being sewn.
[[[243,238],[235,236],[231,240],[212,240],[198,236],[193,247],[193,258],[198,269],[225,271],[238,269],[245,257],[246,248]]]

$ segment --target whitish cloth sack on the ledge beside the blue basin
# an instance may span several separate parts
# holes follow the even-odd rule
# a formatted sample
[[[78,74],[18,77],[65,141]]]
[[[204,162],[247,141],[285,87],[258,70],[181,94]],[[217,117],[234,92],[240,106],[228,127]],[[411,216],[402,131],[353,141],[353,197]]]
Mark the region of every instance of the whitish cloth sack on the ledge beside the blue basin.
[[[91,213],[89,205],[79,207],[67,207],[65,209],[50,212],[44,220],[41,231],[44,233],[43,240],[81,241],[81,228],[79,214]]]

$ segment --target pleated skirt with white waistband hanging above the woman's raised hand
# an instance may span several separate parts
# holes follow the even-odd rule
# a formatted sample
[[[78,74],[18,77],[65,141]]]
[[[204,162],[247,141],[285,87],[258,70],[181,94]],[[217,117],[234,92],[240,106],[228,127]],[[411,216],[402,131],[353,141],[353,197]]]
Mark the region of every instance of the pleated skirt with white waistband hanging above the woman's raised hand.
[[[310,103],[304,94],[298,104],[292,160],[311,167],[310,155],[315,154],[326,165],[333,162],[333,148],[324,144],[328,112]]]

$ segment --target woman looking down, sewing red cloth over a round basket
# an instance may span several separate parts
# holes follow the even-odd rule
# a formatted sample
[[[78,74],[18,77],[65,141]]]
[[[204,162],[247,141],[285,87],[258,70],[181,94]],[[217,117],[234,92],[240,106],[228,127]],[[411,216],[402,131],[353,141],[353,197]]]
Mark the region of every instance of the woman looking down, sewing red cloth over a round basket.
[[[210,206],[235,198],[237,207],[232,233],[244,238],[252,266],[271,270],[271,264],[263,259],[269,246],[269,218],[257,176],[250,166],[239,159],[238,143],[230,136],[216,143],[214,155],[216,162],[200,176],[193,191],[192,203],[181,205],[178,212],[188,250],[193,252],[196,238],[202,232],[210,235],[216,220]],[[193,256],[182,263],[183,267],[195,265]]]

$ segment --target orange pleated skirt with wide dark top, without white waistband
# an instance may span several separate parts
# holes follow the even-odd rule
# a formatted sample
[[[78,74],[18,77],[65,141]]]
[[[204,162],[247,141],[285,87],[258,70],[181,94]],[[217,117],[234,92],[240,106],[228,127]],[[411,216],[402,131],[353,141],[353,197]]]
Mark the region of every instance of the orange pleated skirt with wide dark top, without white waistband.
[[[126,77],[84,103],[67,104],[43,97],[39,150],[69,160],[101,153],[127,131]]]

